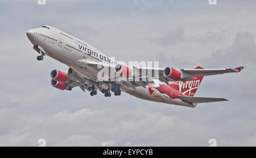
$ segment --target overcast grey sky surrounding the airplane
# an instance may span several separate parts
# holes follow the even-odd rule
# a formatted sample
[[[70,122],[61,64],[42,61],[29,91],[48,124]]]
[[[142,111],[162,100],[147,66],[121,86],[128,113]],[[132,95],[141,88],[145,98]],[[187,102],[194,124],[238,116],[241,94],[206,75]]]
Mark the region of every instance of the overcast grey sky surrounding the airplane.
[[[256,145],[256,2],[0,1],[0,145],[218,146]],[[26,31],[48,24],[123,61],[162,68],[235,68],[205,77],[196,96],[227,102],[196,108],[119,97],[90,97],[50,85],[52,69],[37,61]]]

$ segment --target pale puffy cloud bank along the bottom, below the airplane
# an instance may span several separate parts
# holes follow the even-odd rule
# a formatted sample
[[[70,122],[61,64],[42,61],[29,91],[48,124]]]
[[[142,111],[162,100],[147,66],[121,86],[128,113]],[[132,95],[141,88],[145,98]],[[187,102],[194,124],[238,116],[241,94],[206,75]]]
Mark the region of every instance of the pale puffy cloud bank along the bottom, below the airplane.
[[[198,132],[180,134],[179,130],[188,131],[191,125],[174,116],[141,108],[130,113],[123,113],[121,108],[115,111],[64,110],[34,122],[25,118],[23,122],[30,123],[30,126],[16,126],[5,136],[0,136],[1,145],[30,145],[33,141],[36,144],[41,137],[47,140],[47,145],[102,145],[106,142],[111,145],[162,145],[163,142],[182,145],[179,139],[170,135],[179,134],[184,139],[191,139]],[[197,129],[200,130],[200,127]],[[6,136],[16,141],[7,142]]]

